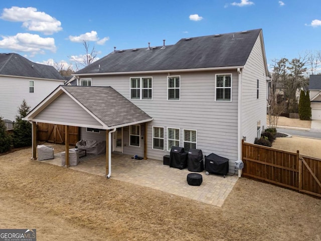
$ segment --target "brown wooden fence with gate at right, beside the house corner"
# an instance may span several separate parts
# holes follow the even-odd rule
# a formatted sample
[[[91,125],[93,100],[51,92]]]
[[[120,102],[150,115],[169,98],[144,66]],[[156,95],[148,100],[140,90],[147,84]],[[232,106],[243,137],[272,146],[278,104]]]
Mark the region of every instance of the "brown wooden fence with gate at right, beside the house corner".
[[[321,159],[242,142],[242,176],[321,197]]]

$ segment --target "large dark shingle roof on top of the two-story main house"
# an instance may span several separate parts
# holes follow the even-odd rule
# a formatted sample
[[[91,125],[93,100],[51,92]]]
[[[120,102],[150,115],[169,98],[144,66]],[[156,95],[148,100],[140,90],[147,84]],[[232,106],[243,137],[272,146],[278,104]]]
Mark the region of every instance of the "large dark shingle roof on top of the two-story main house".
[[[181,39],[165,49],[115,51],[76,74],[243,66],[260,33],[256,29]]]

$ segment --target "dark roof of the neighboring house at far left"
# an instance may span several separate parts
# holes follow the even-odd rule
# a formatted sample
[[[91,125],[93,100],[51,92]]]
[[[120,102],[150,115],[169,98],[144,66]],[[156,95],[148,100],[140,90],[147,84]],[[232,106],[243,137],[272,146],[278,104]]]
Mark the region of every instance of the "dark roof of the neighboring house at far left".
[[[0,75],[65,80],[53,66],[34,63],[16,53],[0,53]]]

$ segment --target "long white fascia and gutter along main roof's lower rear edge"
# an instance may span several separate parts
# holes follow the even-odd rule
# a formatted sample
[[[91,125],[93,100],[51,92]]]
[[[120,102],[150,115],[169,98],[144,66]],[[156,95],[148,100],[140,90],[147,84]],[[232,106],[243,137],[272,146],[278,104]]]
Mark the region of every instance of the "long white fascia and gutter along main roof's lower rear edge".
[[[120,75],[120,74],[157,74],[157,73],[178,73],[178,72],[196,72],[196,71],[217,71],[217,70],[231,70],[238,68],[243,69],[244,66],[225,66],[212,68],[195,68],[195,69],[167,69],[167,70],[148,70],[148,71],[130,71],[130,72],[109,72],[109,73],[84,73],[74,74],[74,76],[99,76],[99,75]]]

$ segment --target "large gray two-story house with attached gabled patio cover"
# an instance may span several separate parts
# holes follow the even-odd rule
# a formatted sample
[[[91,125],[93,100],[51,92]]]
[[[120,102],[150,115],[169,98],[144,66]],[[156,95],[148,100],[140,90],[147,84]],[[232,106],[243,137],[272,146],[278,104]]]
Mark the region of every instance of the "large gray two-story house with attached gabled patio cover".
[[[85,86],[59,87],[27,119],[79,126],[81,139],[115,131],[112,151],[145,158],[163,160],[173,146],[201,149],[228,158],[231,172],[242,139],[253,143],[266,127],[261,29],[114,50],[74,76]]]

